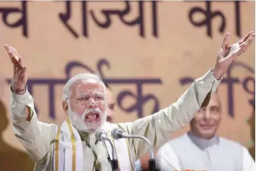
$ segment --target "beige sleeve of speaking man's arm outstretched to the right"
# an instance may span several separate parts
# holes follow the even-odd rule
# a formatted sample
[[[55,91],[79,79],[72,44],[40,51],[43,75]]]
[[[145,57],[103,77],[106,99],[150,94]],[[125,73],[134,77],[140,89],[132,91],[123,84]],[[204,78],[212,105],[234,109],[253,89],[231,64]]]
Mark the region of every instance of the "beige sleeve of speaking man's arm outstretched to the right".
[[[170,140],[171,133],[189,124],[200,108],[207,107],[211,93],[216,91],[219,83],[220,80],[217,80],[209,70],[195,80],[176,103],[148,117],[120,123],[118,126],[126,133],[143,135],[154,148],[159,148]],[[149,146],[141,139],[129,139],[129,145],[136,159],[149,151]]]

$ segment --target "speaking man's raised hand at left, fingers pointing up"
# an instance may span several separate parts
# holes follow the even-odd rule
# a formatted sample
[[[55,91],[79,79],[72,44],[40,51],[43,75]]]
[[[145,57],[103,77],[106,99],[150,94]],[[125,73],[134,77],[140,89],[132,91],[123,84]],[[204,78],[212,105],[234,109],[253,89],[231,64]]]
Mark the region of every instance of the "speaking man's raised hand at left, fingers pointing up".
[[[22,57],[13,47],[4,44],[4,48],[7,50],[13,65],[12,91],[15,93],[24,93],[28,78],[26,75],[26,66],[23,64]]]

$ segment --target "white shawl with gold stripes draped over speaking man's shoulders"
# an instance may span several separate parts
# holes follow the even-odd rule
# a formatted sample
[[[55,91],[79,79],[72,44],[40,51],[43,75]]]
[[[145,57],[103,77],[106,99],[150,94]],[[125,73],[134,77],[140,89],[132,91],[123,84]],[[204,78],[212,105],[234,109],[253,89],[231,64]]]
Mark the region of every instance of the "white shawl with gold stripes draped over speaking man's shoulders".
[[[118,165],[121,171],[133,171],[133,164],[129,153],[127,139],[114,140],[110,133],[114,128],[113,124],[106,123],[104,129],[107,130],[110,140],[117,151]],[[106,142],[107,151],[112,159],[112,149],[109,142]],[[67,119],[56,130],[56,141],[54,143],[54,171],[82,171],[83,146],[78,130],[71,125]]]

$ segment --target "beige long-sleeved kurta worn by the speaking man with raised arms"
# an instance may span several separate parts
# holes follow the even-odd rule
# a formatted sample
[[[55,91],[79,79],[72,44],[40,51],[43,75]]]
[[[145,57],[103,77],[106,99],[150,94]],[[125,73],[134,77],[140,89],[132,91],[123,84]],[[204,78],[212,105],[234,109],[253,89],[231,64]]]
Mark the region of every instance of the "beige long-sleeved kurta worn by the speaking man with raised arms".
[[[125,130],[126,133],[145,136],[154,144],[154,147],[158,148],[170,140],[171,133],[187,125],[200,107],[208,104],[210,92],[215,92],[219,83],[220,80],[216,80],[209,70],[202,78],[195,80],[176,103],[148,117],[134,122],[119,123],[116,126]],[[25,114],[26,107],[32,109],[29,117]],[[15,135],[25,146],[31,159],[41,170],[52,170],[57,125],[38,121],[33,98],[28,91],[23,95],[17,95],[11,91],[11,111]],[[94,144],[95,135],[80,133],[80,137],[83,141],[83,171],[97,168],[111,170],[110,163],[107,161],[107,149],[102,143]],[[128,148],[132,165],[136,159],[149,151],[148,145],[139,139],[129,139]]]

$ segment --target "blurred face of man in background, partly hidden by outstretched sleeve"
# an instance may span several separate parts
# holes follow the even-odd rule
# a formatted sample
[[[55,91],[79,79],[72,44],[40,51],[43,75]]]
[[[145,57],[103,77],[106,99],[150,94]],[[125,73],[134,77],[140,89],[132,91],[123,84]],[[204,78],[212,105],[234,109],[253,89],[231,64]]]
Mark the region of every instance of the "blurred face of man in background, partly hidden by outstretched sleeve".
[[[200,109],[191,120],[191,130],[201,138],[212,138],[220,124],[221,107],[217,93],[212,93],[210,102],[206,108]]]

